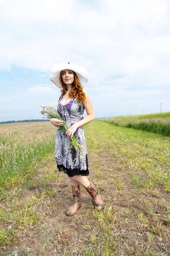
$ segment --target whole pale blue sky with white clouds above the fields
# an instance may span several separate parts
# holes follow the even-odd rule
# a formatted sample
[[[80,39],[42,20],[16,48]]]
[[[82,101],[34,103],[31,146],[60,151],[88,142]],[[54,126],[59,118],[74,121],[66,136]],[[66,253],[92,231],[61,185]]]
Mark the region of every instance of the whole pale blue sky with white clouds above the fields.
[[[168,0],[0,3],[0,121],[57,107],[49,73],[68,61],[88,71],[96,117],[170,112],[169,10]]]

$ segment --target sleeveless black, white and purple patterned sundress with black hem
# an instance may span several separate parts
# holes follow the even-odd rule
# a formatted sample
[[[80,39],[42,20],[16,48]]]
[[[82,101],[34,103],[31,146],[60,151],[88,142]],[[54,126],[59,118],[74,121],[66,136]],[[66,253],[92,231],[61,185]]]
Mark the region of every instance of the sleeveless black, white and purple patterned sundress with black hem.
[[[85,108],[82,102],[77,101],[76,97],[71,99],[65,105],[60,103],[61,98],[62,95],[58,101],[57,111],[62,116],[62,119],[68,128],[70,128],[71,125],[83,118]],[[77,128],[75,133],[83,147],[83,151],[80,152],[79,155],[74,148],[71,148],[71,140],[63,131],[61,131],[61,128],[58,127],[55,141],[55,158],[57,168],[59,169],[59,172],[63,171],[69,177],[74,177],[74,175],[88,176],[88,156],[83,127],[81,126]]]

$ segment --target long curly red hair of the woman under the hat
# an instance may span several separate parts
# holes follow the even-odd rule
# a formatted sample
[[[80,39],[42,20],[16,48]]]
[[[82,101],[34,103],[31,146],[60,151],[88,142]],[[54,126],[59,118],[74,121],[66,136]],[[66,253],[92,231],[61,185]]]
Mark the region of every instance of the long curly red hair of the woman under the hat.
[[[71,85],[72,89],[69,91],[68,96],[71,99],[76,97],[79,102],[85,102],[86,103],[86,101],[85,101],[86,96],[85,96],[85,93],[82,90],[82,86],[79,82],[78,76],[74,71],[72,71],[72,72],[74,74],[74,81]],[[60,72],[59,81],[60,81],[60,84],[62,86],[62,90],[61,90],[62,95],[65,95],[65,93],[67,92],[67,86],[62,81],[62,71]]]

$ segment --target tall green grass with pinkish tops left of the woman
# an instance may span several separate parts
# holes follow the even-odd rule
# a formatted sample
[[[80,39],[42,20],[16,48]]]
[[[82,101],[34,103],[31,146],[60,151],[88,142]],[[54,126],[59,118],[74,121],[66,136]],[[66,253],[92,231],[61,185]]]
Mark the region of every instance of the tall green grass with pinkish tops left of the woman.
[[[54,151],[56,128],[51,124],[1,128],[0,195],[20,185],[26,174],[36,174],[35,163]]]

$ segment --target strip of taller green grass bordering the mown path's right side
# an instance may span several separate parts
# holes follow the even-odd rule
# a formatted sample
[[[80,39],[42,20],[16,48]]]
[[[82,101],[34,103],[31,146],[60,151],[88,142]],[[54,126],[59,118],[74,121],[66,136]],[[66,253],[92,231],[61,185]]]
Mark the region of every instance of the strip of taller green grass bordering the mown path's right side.
[[[141,116],[119,116],[109,118],[108,122],[116,126],[170,136],[170,112]]]

